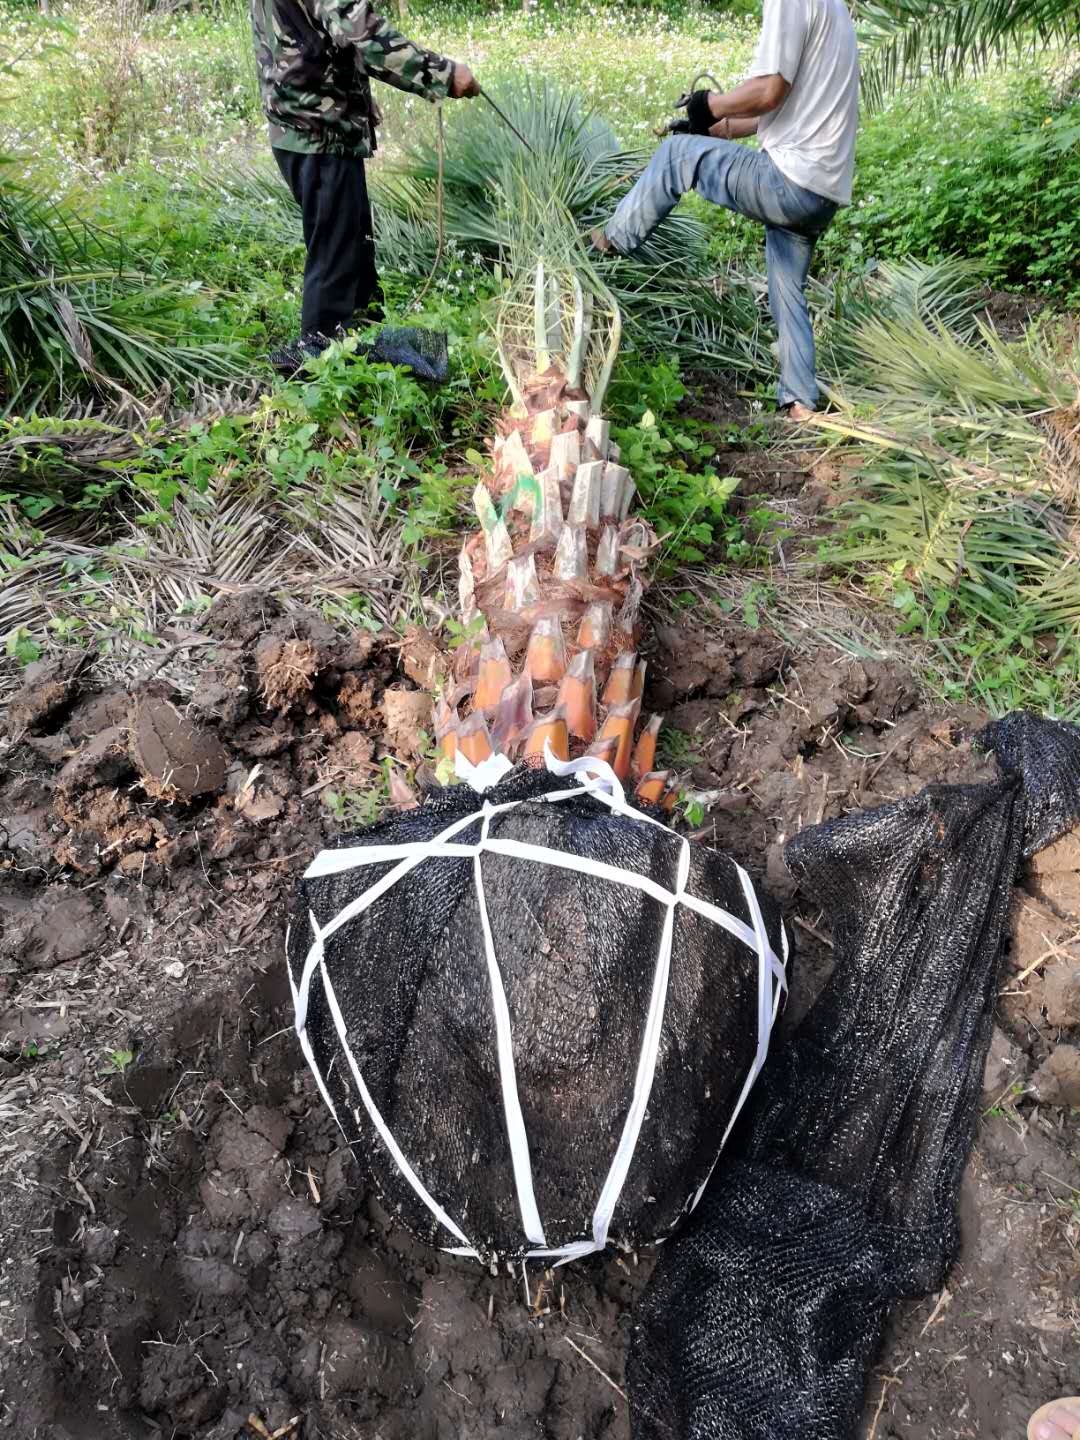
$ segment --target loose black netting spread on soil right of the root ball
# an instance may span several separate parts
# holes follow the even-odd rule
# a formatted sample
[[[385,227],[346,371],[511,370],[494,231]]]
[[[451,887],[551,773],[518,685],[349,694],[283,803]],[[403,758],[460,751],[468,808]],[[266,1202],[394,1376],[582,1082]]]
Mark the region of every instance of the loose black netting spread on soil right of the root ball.
[[[1079,816],[1076,727],[1012,717],[986,739],[1002,782],[788,844],[835,969],[661,1253],[626,1371],[635,1440],[854,1436],[888,1306],[942,1283],[1028,792],[1035,834]]]

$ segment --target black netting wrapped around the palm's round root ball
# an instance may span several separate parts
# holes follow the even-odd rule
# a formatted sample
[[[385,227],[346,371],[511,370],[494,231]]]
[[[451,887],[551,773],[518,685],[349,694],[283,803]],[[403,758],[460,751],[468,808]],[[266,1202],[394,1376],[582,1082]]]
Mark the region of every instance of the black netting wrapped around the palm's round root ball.
[[[491,835],[586,855],[672,888],[680,842],[585,793],[543,804],[572,782],[518,772],[492,805],[526,804]],[[426,840],[481,801],[461,786],[340,845]],[[462,835],[475,841],[480,822]],[[503,1113],[491,984],[471,858],[423,864],[327,943],[350,1048],[370,1094],[431,1194],[482,1253],[518,1256],[521,1230]],[[590,1234],[634,1089],[664,907],[639,890],[570,868],[488,854],[484,887],[514,1038],[517,1086],[549,1246]],[[294,984],[311,910],[325,926],[387,870],[305,880],[289,929]],[[688,891],[752,924],[734,864],[693,847]],[[779,917],[762,900],[780,955]],[[350,1142],[386,1204],[423,1240],[458,1244],[402,1178],[374,1133],[318,981],[307,1031]],[[757,1043],[757,956],[685,907],[675,912],[671,978],[655,1080],[615,1211],[612,1240],[664,1234],[707,1176]]]

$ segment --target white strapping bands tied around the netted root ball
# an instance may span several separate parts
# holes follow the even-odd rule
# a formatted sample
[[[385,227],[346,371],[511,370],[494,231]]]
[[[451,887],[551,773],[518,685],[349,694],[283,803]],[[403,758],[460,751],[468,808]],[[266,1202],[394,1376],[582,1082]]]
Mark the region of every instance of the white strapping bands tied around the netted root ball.
[[[461,1241],[458,1246],[448,1246],[446,1248],[452,1254],[467,1254],[480,1257],[478,1248],[469,1243],[468,1237],[462,1231],[461,1225],[444,1210],[444,1207],[435,1200],[429,1192],[420,1176],[416,1174],[413,1166],[409,1164],[408,1158],[403,1155],[400,1146],[397,1145],[393,1133],[386,1125],[379,1107],[372,1097],[360,1066],[357,1064],[356,1056],[353,1054],[348,1044],[348,1032],[346,1027],[341,1008],[337,1001],[337,995],[327,973],[325,966],[325,940],[328,936],[334,935],[341,926],[347,924],[350,920],[363,914],[376,900],[387,893],[400,878],[415,870],[416,865],[422,864],[425,860],[432,860],[442,855],[454,855],[459,858],[472,858],[472,877],[477,887],[477,901],[480,907],[481,930],[484,936],[484,953],[488,968],[488,979],[491,984],[491,1004],[495,1021],[495,1043],[498,1050],[498,1073],[500,1086],[503,1090],[503,1113],[507,1126],[507,1139],[510,1143],[510,1156],[514,1172],[514,1187],[517,1191],[517,1204],[521,1215],[521,1227],[526,1240],[534,1248],[527,1251],[528,1259],[549,1259],[556,1260],[556,1263],[563,1264],[567,1260],[575,1260],[580,1256],[592,1254],[598,1250],[603,1250],[608,1244],[608,1236],[611,1230],[612,1217],[615,1214],[615,1207],[619,1202],[622,1188],[626,1182],[629,1174],[629,1166],[634,1159],[634,1152],[638,1145],[638,1138],[641,1135],[641,1126],[645,1119],[645,1112],[648,1109],[649,1094],[652,1092],[652,1083],[657,1071],[657,1058],[660,1054],[660,1041],[664,1028],[664,1009],[667,1004],[668,979],[671,972],[671,945],[674,936],[675,924],[675,909],[683,904],[721,929],[727,930],[737,940],[746,945],[757,955],[757,1045],[755,1051],[755,1058],[750,1066],[750,1071],[746,1077],[743,1089],[736,1102],[734,1110],[727,1122],[727,1128],[720,1140],[719,1152],[727,1142],[727,1136],[732,1132],[739,1112],[742,1110],[746,1099],[753,1087],[755,1080],[760,1074],[765,1058],[769,1053],[769,1034],[772,1025],[776,1020],[779,1011],[780,998],[788,988],[785,968],[788,963],[788,935],[780,926],[780,942],[783,949],[783,960],[779,960],[773,953],[772,945],[769,943],[769,936],[765,929],[765,920],[762,917],[762,910],[757,903],[757,896],[755,894],[753,884],[746,871],[736,865],[739,874],[739,881],[743,888],[743,897],[746,900],[746,909],[750,916],[752,924],[746,924],[737,916],[730,912],[711,904],[707,900],[701,900],[697,896],[685,893],[687,880],[690,877],[690,842],[685,837],[675,835],[668,825],[661,821],[654,819],[651,815],[645,815],[638,809],[634,809],[624,793],[622,785],[612,770],[612,768],[605,762],[593,756],[583,756],[579,760],[557,760],[550,747],[546,749],[544,760],[547,769],[559,776],[573,776],[577,783],[566,791],[556,791],[550,795],[539,796],[539,799],[546,802],[557,802],[563,799],[573,799],[582,793],[589,793],[595,799],[603,802],[615,814],[626,815],[636,821],[645,821],[649,825],[657,825],[660,829],[670,835],[674,835],[680,841],[680,855],[678,855],[678,870],[675,888],[668,890],[667,887],[657,884],[648,876],[636,874],[635,871],[619,870],[615,865],[606,865],[602,861],[592,860],[588,855],[567,855],[560,851],[549,850],[543,845],[530,845],[524,841],[517,840],[498,840],[490,834],[491,819],[505,811],[516,809],[521,801],[507,801],[500,805],[491,805],[487,799],[482,804],[482,809],[478,814],[471,814],[459,816],[451,825],[448,825],[438,835],[431,840],[423,841],[408,841],[397,845],[351,845],[341,850],[324,850],[321,851],[312,863],[308,865],[304,878],[317,878],[320,876],[340,874],[346,870],[353,870],[359,865],[376,865],[397,861],[380,880],[377,880],[369,890],[351,900],[344,909],[341,909],[333,920],[327,924],[320,926],[315,916],[310,916],[312,940],[308,948],[308,953],[304,962],[304,969],[301,972],[300,984],[294,984],[292,973],[289,972],[289,986],[292,988],[292,1001],[295,1007],[297,1017],[297,1034],[300,1035],[301,1048],[304,1057],[311,1066],[315,1076],[320,1093],[325,1103],[330,1106],[330,1112],[341,1126],[341,1120],[334,1109],[334,1103],[330,1099],[330,1093],[323,1074],[315,1063],[315,1056],[311,1047],[311,1041],[307,1035],[307,1015],[308,1002],[311,995],[311,982],[315,972],[318,971],[320,981],[323,984],[323,991],[327,999],[327,1007],[330,1009],[331,1018],[334,1021],[334,1028],[338,1035],[341,1048],[348,1060],[348,1068],[351,1071],[353,1080],[356,1083],[357,1093],[360,1096],[361,1104],[367,1112],[367,1116],[374,1126],[379,1138],[389,1151],[395,1165],[400,1171],[405,1181],[412,1187],[422,1204],[431,1211],[432,1215],[439,1221],[439,1224],[451,1234],[455,1240]],[[487,770],[481,766],[471,766],[464,756],[458,755],[458,773],[478,792],[487,791],[491,785],[498,783],[505,775],[508,762],[501,766],[488,765]],[[475,842],[461,841],[456,837],[467,831],[469,827],[480,822],[480,838]],[[498,965],[498,956],[495,955],[494,936],[491,933],[491,922],[487,909],[487,896],[484,891],[484,873],[481,857],[484,852],[511,855],[518,860],[530,860],[539,864],[559,865],[569,870],[576,870],[579,873],[592,874],[599,880],[613,881],[616,884],[631,886],[636,890],[644,891],[657,903],[665,906],[664,926],[661,930],[660,949],[657,953],[657,965],[652,975],[652,991],[649,995],[648,1011],[645,1015],[645,1027],[642,1031],[641,1050],[638,1053],[638,1064],[634,1077],[634,1093],[631,1097],[629,1109],[626,1112],[626,1119],[622,1126],[622,1133],[619,1136],[619,1143],[615,1149],[608,1175],[600,1187],[600,1194],[596,1201],[596,1208],[592,1217],[592,1234],[589,1238],[575,1240],[569,1244],[559,1247],[549,1247],[544,1238],[544,1228],[540,1220],[540,1211],[536,1202],[536,1191],[533,1185],[533,1166],[528,1151],[528,1136],[526,1133],[524,1117],[521,1115],[521,1103],[517,1092],[517,1073],[514,1068],[514,1047],[513,1047],[513,1032],[510,1025],[510,1009],[507,1005],[505,986],[503,982],[503,973]],[[344,1126],[341,1126],[344,1133]],[[713,1161],[713,1168],[716,1166],[716,1159]],[[711,1169],[710,1169],[711,1175]],[[688,1200],[687,1208],[693,1210],[701,1198],[701,1194],[708,1182],[708,1176],[703,1181],[697,1192]]]

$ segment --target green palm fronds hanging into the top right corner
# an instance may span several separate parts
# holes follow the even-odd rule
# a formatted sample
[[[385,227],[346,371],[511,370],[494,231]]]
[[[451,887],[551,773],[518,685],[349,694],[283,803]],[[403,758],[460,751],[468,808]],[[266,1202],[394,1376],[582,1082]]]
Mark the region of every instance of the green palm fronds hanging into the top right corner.
[[[927,73],[949,79],[1009,49],[1080,37],[1077,0],[857,0],[855,16],[873,105]]]

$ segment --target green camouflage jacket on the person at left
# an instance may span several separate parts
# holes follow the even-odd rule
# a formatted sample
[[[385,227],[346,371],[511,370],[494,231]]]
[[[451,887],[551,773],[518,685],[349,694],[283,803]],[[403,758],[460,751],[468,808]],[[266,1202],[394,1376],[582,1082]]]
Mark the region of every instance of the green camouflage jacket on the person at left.
[[[449,89],[454,63],[406,40],[367,0],[251,0],[251,14],[262,108],[279,150],[373,154],[372,76],[432,101]]]

